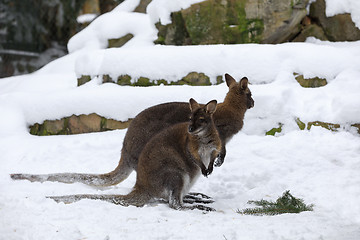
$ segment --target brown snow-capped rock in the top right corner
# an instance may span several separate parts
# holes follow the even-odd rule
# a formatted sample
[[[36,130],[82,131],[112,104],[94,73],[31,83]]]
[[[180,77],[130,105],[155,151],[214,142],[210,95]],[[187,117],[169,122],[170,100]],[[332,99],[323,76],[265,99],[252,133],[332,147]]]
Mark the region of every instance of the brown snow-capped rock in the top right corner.
[[[351,19],[350,14],[338,14],[333,17],[325,15],[325,1],[317,0],[310,5],[309,16],[317,22],[330,41],[360,40],[360,29]]]

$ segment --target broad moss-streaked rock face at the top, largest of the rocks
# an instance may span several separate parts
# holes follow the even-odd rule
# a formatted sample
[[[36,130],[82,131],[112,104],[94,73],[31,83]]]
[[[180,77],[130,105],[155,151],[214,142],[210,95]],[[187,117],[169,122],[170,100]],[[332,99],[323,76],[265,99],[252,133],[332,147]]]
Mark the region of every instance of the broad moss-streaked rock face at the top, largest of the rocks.
[[[301,30],[309,0],[207,0],[157,24],[157,43],[167,45],[280,43]]]

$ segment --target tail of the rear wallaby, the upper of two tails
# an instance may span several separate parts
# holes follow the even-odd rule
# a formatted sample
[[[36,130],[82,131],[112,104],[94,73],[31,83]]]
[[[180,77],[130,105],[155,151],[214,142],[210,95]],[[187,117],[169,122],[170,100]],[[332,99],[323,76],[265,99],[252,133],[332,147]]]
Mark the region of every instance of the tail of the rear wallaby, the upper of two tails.
[[[105,187],[116,185],[125,180],[133,171],[121,157],[119,165],[115,170],[105,174],[86,173],[54,173],[54,174],[10,174],[13,180],[29,180],[30,182],[62,182],[62,183],[84,183],[90,186]]]

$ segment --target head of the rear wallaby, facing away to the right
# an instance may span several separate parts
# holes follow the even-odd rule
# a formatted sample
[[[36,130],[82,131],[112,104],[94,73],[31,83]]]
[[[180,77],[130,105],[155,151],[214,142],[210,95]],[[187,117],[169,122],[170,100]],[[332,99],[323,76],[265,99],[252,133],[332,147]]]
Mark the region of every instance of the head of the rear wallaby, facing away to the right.
[[[248,88],[249,80],[247,77],[243,77],[240,82],[236,82],[232,76],[226,73],[225,80],[229,87],[226,97],[230,98],[232,104],[245,103],[247,109],[254,107],[254,99],[252,99],[251,91]]]

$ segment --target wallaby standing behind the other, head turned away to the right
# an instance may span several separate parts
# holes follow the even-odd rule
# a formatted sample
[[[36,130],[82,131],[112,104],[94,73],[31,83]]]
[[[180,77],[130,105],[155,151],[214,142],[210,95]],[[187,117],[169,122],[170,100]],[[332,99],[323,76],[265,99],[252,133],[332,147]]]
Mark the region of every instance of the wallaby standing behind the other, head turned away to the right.
[[[214,122],[220,134],[222,149],[215,166],[220,166],[225,158],[225,144],[243,127],[243,119],[247,109],[254,106],[248,88],[248,79],[240,82],[225,74],[226,84],[229,87],[223,103],[218,104],[214,113]],[[110,186],[122,182],[133,170],[138,169],[138,159],[149,140],[161,130],[180,122],[188,121],[190,109],[188,103],[171,102],[156,105],[139,113],[131,122],[121,150],[118,166],[106,174],[55,173],[44,175],[12,174],[15,180],[44,182],[57,181],[64,183],[82,182],[92,186]],[[210,168],[209,173],[211,173]]]

